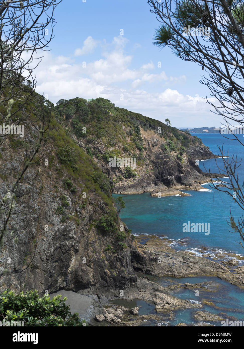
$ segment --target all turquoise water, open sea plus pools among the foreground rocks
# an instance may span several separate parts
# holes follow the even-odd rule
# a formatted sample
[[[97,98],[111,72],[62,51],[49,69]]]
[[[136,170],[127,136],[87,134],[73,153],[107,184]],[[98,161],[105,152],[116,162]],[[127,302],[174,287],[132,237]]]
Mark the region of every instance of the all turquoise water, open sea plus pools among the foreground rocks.
[[[195,134],[193,134],[195,135]],[[206,146],[216,155],[220,154],[218,145],[224,144],[225,155],[237,155],[241,161],[238,168],[239,178],[244,178],[244,147],[234,140],[224,139],[220,134],[196,134],[202,139]],[[243,135],[239,135],[243,140]],[[229,154],[227,153],[229,150]],[[217,164],[221,167],[222,159],[216,159]],[[200,161],[201,170],[218,173],[218,166],[215,159]],[[205,169],[204,169],[205,167]],[[228,181],[228,178],[225,179]],[[209,184],[202,186],[206,191],[184,191],[191,196],[168,196],[162,198],[152,198],[150,193],[138,195],[113,195],[123,196],[125,208],[122,210],[120,217],[132,229],[134,235],[158,235],[167,236],[173,240],[173,247],[176,249],[187,249],[195,251],[199,255],[210,253],[212,257],[218,252],[234,252],[243,255],[244,250],[239,244],[238,232],[230,232],[229,221],[230,209],[236,220],[243,215],[243,211],[225,193],[214,190]],[[183,232],[183,223],[209,223],[209,235],[204,232]],[[203,253],[199,249],[204,249]],[[231,258],[232,259],[232,258]],[[243,261],[239,261],[238,265],[243,265]],[[238,320],[244,320],[244,297],[243,290],[228,282],[222,281],[216,277],[188,277],[188,278],[157,278],[151,277],[154,282],[158,282],[163,287],[170,284],[170,280],[175,283],[198,283],[204,281],[214,281],[221,284],[217,292],[199,292],[199,297],[195,296],[193,290],[180,289],[171,292],[178,298],[191,299],[192,302],[200,302],[203,307],[199,310],[211,312],[213,314],[221,314],[224,319],[231,316]],[[207,299],[214,306],[209,306],[202,301]],[[155,314],[153,305],[136,300],[134,306],[140,307],[140,314]],[[193,315],[196,310],[186,309],[179,310],[174,313],[174,320],[162,321],[162,326],[175,326],[179,322],[191,324],[197,322]],[[221,326],[220,322],[213,322],[215,326]],[[158,321],[148,320],[140,326],[158,326]]]

